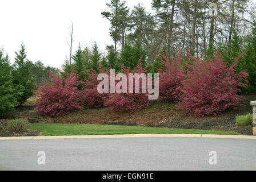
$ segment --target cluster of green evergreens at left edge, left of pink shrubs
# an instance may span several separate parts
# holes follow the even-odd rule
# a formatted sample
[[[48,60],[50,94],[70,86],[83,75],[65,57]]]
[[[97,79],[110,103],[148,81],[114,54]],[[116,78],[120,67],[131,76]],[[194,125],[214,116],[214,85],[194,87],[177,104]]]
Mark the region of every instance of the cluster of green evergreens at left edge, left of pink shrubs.
[[[28,60],[24,44],[15,55],[11,65],[9,56],[0,48],[0,117],[33,96],[35,83],[42,85],[49,80],[48,71],[58,72],[58,69],[45,67],[41,61],[33,64]]]

